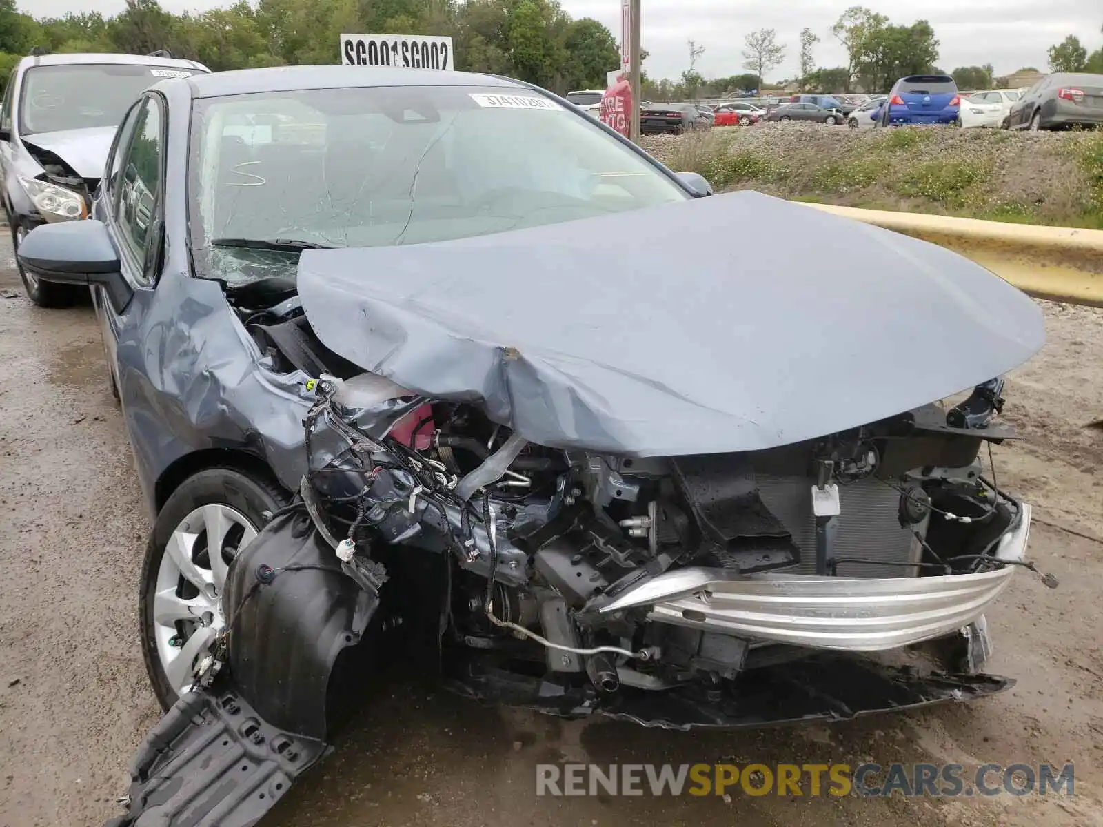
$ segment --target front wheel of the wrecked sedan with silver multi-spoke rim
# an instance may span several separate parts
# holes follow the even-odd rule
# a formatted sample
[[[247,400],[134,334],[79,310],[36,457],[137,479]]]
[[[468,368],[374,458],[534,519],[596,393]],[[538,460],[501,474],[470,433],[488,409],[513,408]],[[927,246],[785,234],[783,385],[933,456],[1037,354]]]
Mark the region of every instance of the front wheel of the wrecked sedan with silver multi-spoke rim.
[[[158,514],[142,561],[138,622],[162,709],[191,685],[194,663],[226,622],[221,598],[231,560],[286,501],[268,480],[215,468],[188,477]]]

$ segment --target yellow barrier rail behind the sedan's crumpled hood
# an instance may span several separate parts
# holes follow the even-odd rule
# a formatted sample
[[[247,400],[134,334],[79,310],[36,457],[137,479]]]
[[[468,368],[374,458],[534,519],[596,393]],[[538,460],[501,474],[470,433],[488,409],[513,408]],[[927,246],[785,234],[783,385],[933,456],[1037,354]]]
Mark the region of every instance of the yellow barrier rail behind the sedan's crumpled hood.
[[[1103,230],[807,204],[933,241],[1042,299],[1103,307]]]

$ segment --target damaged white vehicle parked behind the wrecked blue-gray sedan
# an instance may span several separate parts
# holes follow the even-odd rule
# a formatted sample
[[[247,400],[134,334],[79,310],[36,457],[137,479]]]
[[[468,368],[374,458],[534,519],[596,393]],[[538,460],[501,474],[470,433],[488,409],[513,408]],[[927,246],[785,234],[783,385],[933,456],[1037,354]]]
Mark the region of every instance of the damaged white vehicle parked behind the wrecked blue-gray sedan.
[[[127,107],[165,77],[206,73],[156,55],[58,54],[22,58],[0,105],[3,210],[18,250],[40,224],[85,218]],[[22,267],[31,301],[56,307],[86,291],[41,282]]]

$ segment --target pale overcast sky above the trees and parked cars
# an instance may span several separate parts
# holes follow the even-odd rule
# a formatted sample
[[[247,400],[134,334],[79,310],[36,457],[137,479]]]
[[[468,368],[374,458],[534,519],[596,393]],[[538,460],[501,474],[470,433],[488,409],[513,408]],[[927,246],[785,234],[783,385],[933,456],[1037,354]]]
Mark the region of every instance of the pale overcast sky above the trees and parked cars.
[[[560,0],[571,15],[597,18],[620,40],[620,0]],[[778,30],[786,46],[785,62],[768,79],[797,74],[800,31],[808,26],[820,35],[815,58],[820,66],[839,66],[846,52],[827,31],[843,10],[856,0],[642,0],[643,47],[650,53],[644,68],[652,77],[677,77],[688,67],[690,37],[705,53],[697,71],[706,77],[742,73],[740,54],[743,36],[761,28]],[[229,6],[227,0],[161,0],[169,11],[205,11]],[[992,63],[997,75],[1022,66],[1046,71],[1046,50],[1067,34],[1075,34],[1094,51],[1103,44],[1103,4],[1099,0],[868,0],[874,11],[897,24],[925,18],[941,41],[939,64],[950,71],[957,66]],[[17,0],[17,6],[35,17],[98,10],[113,14],[124,0]],[[338,44],[333,44],[338,58]],[[614,68],[614,67],[611,67]]]

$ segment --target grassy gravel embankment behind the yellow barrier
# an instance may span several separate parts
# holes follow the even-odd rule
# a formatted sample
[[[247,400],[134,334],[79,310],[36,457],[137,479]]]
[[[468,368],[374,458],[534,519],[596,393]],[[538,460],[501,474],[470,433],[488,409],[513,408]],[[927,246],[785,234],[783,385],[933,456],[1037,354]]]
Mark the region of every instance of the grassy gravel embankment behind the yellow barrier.
[[[1103,131],[760,123],[643,146],[717,192],[1103,229]]]

